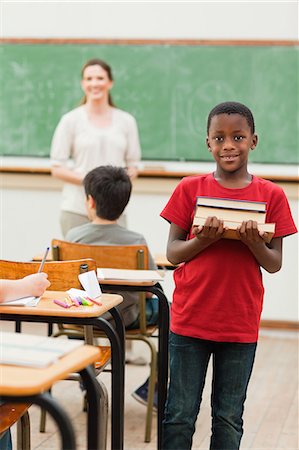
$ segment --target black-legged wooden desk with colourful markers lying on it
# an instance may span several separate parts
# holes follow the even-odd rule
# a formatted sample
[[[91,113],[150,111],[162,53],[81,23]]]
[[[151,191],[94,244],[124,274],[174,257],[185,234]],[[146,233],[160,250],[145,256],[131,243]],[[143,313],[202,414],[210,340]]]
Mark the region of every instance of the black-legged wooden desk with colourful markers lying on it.
[[[102,306],[62,308],[53,299],[63,299],[65,292],[46,291],[36,307],[0,305],[3,320],[88,325],[104,331],[111,345],[111,448],[123,449],[124,433],[124,325],[116,306],[122,302],[117,294],[103,294]],[[109,311],[115,328],[100,316]]]

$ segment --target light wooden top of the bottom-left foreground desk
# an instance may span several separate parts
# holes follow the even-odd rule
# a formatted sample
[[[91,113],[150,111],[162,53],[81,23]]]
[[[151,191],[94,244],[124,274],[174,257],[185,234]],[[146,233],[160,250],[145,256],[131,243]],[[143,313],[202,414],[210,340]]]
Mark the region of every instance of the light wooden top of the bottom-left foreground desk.
[[[1,364],[0,394],[17,397],[43,393],[56,381],[67,378],[72,372],[84,369],[97,361],[99,357],[98,347],[82,345],[45,368]]]

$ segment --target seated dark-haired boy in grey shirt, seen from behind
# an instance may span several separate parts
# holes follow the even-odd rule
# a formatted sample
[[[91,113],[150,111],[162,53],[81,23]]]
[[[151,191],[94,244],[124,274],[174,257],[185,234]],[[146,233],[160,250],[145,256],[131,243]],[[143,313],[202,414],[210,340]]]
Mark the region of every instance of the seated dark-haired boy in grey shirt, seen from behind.
[[[99,166],[89,172],[83,185],[90,223],[68,231],[66,240],[89,245],[147,245],[145,238],[135,231],[128,230],[117,223],[127,206],[132,183],[125,169],[114,166]],[[149,254],[149,269],[156,269]],[[119,305],[125,327],[139,327],[138,293],[122,292],[123,303]],[[158,299],[146,300],[146,319],[148,325],[158,322]],[[110,314],[104,315],[110,319]],[[134,398],[146,402],[147,382],[133,394]]]

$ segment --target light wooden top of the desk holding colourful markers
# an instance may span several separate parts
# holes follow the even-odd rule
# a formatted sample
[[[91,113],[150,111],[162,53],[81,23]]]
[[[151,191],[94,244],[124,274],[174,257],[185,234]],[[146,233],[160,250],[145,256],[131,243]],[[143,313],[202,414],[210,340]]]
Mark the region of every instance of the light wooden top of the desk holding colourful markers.
[[[0,304],[0,314],[30,315],[30,316],[55,316],[55,317],[98,317],[109,309],[119,305],[123,298],[118,294],[102,294],[97,300],[102,306],[72,306],[63,308],[53,302],[54,299],[64,300],[67,296],[61,291],[46,291],[37,306],[7,306]]]

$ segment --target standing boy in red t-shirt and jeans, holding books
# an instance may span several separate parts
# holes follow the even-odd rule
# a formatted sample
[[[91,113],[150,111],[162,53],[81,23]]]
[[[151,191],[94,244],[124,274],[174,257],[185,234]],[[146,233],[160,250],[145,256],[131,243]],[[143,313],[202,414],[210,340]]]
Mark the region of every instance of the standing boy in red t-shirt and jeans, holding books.
[[[170,383],[163,422],[163,450],[188,450],[213,358],[210,450],[237,450],[252,372],[264,288],[261,267],[280,270],[282,238],[296,233],[283,190],[248,173],[258,141],[251,111],[237,102],[209,114],[207,146],[214,173],[184,178],[161,216],[170,222],[167,258],[175,270],[171,309]],[[209,217],[193,227],[197,196],[265,202],[266,222],[276,224],[266,243],[254,221],[243,222],[239,240],[223,239],[223,221]]]

